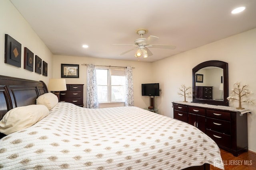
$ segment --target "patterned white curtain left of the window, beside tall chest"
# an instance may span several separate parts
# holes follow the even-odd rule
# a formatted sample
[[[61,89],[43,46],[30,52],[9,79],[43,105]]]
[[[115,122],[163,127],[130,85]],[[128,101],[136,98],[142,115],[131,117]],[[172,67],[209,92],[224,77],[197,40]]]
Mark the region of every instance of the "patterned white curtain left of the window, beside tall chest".
[[[94,64],[87,68],[86,108],[99,108],[96,69]]]

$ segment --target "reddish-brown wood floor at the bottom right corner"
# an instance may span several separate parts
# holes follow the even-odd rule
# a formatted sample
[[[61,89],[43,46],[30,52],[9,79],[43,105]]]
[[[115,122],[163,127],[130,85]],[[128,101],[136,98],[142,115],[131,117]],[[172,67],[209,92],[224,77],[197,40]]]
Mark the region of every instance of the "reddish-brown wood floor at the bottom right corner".
[[[225,170],[256,170],[256,154],[253,152],[243,152],[236,157],[230,152],[220,149],[220,154]],[[210,170],[220,169],[210,165]]]

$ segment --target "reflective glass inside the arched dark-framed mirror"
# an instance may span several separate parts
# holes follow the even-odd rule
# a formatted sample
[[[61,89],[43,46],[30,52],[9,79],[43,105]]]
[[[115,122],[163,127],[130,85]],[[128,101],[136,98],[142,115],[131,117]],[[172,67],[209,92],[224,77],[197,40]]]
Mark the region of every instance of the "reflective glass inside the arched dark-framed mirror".
[[[196,72],[195,80],[196,99],[224,101],[222,68],[204,67]]]

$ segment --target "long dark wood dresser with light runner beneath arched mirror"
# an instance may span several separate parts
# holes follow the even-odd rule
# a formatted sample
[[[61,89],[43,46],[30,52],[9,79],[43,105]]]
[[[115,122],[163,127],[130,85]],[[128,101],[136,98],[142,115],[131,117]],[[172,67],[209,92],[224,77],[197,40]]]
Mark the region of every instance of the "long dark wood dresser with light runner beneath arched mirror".
[[[174,119],[200,129],[217,145],[238,156],[248,151],[247,113],[234,107],[172,102]],[[243,113],[243,114],[242,114]]]

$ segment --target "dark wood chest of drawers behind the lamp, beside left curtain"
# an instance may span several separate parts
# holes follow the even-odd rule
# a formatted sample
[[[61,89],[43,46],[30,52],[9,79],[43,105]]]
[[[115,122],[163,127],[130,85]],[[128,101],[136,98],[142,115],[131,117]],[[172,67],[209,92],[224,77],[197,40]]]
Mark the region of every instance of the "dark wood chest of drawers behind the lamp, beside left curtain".
[[[66,84],[67,90],[60,92],[60,102],[84,106],[84,84]]]

